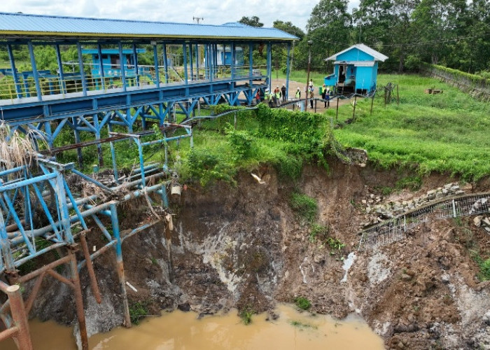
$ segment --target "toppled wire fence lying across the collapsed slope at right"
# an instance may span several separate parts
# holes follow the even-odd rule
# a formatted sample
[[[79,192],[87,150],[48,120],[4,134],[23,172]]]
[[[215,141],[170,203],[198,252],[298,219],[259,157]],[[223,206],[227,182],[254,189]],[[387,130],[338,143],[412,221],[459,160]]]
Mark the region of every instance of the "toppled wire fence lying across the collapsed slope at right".
[[[405,232],[429,218],[441,220],[478,214],[490,214],[490,193],[444,198],[361,231],[358,250],[398,241],[405,237]]]

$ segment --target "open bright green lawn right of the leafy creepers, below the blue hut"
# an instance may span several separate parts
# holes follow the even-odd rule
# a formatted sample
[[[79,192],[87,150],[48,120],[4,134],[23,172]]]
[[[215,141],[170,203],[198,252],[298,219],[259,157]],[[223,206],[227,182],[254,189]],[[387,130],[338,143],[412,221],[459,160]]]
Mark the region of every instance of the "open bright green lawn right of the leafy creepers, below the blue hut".
[[[370,160],[384,168],[413,167],[419,174],[441,172],[477,180],[490,174],[490,104],[478,102],[438,80],[420,76],[381,75],[378,87],[400,86],[400,105],[383,106],[382,93],[356,107],[356,123],[335,130],[344,144],[364,148]],[[425,94],[428,87],[444,90]],[[328,116],[335,117],[335,109]],[[341,106],[339,121],[351,118],[350,105]]]

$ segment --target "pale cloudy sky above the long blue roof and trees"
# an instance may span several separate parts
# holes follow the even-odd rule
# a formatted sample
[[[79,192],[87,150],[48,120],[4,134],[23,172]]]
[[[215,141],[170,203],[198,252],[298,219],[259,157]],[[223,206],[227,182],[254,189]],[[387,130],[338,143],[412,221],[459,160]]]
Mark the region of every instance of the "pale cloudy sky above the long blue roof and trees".
[[[304,30],[319,0],[3,0],[1,12],[65,15],[156,22],[196,22],[221,25],[243,16],[258,16],[265,27],[274,20],[292,22]],[[359,0],[350,0],[349,11]]]

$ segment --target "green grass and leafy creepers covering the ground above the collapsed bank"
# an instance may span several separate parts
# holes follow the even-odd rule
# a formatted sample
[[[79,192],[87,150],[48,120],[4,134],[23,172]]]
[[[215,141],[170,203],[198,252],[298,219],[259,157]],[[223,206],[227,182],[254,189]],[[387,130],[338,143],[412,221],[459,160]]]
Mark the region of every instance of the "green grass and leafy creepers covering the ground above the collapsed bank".
[[[311,77],[316,86],[323,80],[323,74],[312,73]],[[293,72],[291,79],[306,81],[306,73]],[[400,104],[393,101],[385,107],[383,93],[378,93],[371,115],[371,100],[358,99],[356,120],[351,124],[344,121],[352,118],[353,104],[339,107],[337,121],[335,107],[316,116],[279,109],[239,113],[237,130],[232,128],[232,114],[202,121],[194,129],[192,151],[189,140],[169,144],[169,167],[179,169],[184,179],[198,179],[203,185],[216,179],[233,181],[237,169],[250,170],[262,163],[274,165],[279,174],[294,179],[304,162],[321,163],[322,152],[335,144],[329,137],[332,119],[338,125],[332,132],[336,139],[343,146],[364,148],[379,167],[459,175],[467,181],[490,175],[490,104],[435,79],[379,76],[380,89],[388,82],[399,85]],[[429,87],[444,92],[426,94]],[[134,146],[121,143],[116,148],[119,164],[134,162]],[[146,157],[161,160],[162,146],[153,148]],[[95,147],[85,153],[90,153],[87,164],[95,162]],[[75,160],[74,151],[66,156],[65,161]],[[110,164],[109,149],[104,148],[104,158]]]

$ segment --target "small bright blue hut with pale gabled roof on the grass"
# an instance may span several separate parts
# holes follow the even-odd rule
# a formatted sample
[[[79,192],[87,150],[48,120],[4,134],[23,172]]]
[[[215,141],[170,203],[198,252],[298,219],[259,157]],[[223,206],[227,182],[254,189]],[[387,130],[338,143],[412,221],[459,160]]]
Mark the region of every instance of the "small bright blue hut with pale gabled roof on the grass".
[[[388,59],[363,43],[337,52],[325,61],[334,61],[334,72],[325,76],[325,85],[334,86],[337,93],[370,94],[376,90],[378,62]]]

